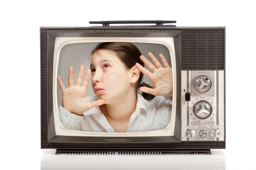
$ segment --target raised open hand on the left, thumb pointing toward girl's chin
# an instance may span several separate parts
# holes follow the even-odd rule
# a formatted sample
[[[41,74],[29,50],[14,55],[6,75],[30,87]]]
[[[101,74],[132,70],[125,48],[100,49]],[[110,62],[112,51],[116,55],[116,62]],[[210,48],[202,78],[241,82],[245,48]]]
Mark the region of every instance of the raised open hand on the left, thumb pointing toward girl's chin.
[[[90,81],[91,70],[87,69],[84,82],[81,85],[83,74],[84,74],[84,65],[81,65],[78,76],[76,78],[76,85],[74,86],[73,66],[70,66],[67,89],[65,88],[63,81],[61,80],[61,76],[58,75],[58,84],[62,92],[62,107],[64,107],[71,113],[79,116],[83,116],[82,113],[86,112],[87,110],[90,110],[93,107],[97,107],[105,103],[105,100],[97,100],[91,103],[87,102],[86,91]]]

